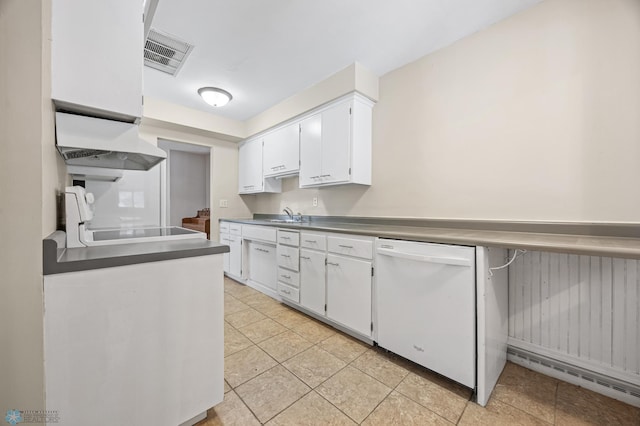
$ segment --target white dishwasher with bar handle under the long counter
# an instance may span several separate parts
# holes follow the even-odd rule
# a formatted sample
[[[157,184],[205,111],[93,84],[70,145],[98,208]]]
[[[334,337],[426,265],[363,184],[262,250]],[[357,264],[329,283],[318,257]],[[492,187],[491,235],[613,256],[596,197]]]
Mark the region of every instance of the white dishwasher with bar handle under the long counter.
[[[378,345],[474,388],[475,248],[378,239],[375,275]]]

